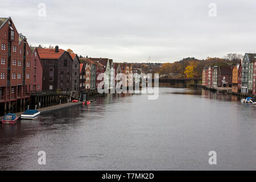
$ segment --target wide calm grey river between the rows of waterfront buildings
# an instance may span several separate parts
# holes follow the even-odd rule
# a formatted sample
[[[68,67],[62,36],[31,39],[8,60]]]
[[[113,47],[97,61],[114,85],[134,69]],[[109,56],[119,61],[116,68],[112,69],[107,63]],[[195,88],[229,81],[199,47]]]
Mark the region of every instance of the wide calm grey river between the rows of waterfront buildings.
[[[256,169],[256,105],[201,88],[108,94],[0,131],[1,170]]]

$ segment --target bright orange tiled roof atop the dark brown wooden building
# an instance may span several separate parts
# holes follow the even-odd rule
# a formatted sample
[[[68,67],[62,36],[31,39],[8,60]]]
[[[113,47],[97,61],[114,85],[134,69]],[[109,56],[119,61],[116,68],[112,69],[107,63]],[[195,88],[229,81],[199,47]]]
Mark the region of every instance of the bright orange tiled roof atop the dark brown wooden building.
[[[38,48],[38,54],[41,59],[59,59],[61,55],[63,55],[63,49],[59,49],[59,52],[55,52],[55,48],[48,49],[48,48]]]

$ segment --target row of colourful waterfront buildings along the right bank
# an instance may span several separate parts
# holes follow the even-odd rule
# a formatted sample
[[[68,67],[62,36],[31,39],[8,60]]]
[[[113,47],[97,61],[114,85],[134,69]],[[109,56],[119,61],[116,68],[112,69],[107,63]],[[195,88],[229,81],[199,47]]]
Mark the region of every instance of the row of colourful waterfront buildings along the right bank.
[[[203,69],[202,85],[232,88],[233,93],[256,95],[256,54],[245,53],[239,64],[213,65]]]

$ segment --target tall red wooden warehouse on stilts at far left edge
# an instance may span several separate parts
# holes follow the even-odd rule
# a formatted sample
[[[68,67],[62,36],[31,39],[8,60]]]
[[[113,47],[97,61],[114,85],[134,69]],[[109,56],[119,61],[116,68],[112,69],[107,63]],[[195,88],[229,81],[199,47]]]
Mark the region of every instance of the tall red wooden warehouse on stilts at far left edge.
[[[0,114],[23,111],[30,102],[31,49],[11,18],[0,18]]]

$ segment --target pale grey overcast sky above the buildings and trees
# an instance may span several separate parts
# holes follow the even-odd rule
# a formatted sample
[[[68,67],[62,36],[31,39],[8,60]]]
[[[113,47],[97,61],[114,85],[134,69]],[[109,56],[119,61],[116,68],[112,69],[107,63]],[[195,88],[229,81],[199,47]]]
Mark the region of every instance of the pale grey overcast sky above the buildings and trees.
[[[39,3],[46,5],[46,16]],[[216,16],[209,16],[215,12],[210,3]],[[256,52],[255,0],[12,0],[1,1],[0,16],[11,16],[32,46],[58,45],[114,61]]]

